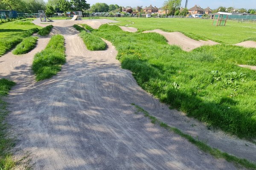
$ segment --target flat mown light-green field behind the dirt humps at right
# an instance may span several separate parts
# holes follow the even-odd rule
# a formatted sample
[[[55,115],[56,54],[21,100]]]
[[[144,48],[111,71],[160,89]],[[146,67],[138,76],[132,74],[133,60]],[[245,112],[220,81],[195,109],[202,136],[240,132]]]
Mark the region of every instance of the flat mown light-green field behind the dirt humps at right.
[[[108,17],[107,19],[112,19]],[[191,18],[137,18],[137,17],[117,17],[117,21],[122,23],[113,23],[125,26],[134,22],[130,27],[139,28],[139,30],[163,29],[166,31],[180,31],[186,35],[196,35],[208,40],[222,42],[224,44],[236,44],[248,37],[256,38],[255,23],[235,23],[227,22],[226,26],[212,26],[212,20],[201,20]],[[154,24],[152,24],[154,23]],[[189,36],[190,37],[190,36]]]

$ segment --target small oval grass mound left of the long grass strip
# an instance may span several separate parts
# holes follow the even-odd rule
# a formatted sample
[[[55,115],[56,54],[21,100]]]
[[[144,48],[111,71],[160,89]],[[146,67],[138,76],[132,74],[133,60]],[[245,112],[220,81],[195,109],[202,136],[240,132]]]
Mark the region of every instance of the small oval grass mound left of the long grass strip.
[[[35,48],[37,43],[38,37],[26,37],[16,46],[16,48],[12,51],[13,54],[19,55],[19,54],[26,54],[32,49]]]

